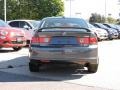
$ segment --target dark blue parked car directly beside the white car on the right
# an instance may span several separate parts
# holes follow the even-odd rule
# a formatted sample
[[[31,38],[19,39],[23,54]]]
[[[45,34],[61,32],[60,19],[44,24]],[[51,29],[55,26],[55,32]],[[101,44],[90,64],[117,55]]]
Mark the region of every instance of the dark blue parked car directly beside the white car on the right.
[[[106,26],[103,25],[102,23],[94,23],[93,25],[94,25],[95,27],[102,28],[102,29],[106,30],[106,31],[108,32],[108,39],[109,39],[109,40],[112,40],[112,39],[114,39],[114,38],[117,38],[117,37],[115,36],[115,33],[114,33],[113,29],[106,27]]]

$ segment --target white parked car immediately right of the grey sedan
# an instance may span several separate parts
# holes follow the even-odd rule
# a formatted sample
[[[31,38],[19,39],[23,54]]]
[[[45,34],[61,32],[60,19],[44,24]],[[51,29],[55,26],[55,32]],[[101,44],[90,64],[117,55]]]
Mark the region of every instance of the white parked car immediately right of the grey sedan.
[[[108,39],[108,33],[106,30],[97,28],[90,23],[88,23],[88,27],[91,31],[93,31],[96,34],[98,41]]]

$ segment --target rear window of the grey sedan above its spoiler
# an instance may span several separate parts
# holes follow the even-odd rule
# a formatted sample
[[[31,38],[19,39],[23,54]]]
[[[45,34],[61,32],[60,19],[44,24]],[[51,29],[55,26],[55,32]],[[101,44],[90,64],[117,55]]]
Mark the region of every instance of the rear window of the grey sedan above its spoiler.
[[[41,28],[75,28],[75,27],[81,27],[81,28],[88,28],[87,23],[82,19],[75,19],[75,18],[51,18],[46,19]]]

